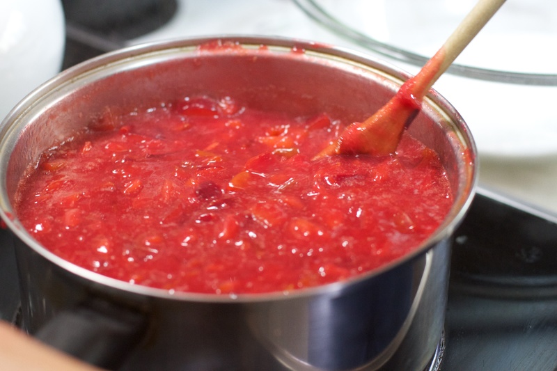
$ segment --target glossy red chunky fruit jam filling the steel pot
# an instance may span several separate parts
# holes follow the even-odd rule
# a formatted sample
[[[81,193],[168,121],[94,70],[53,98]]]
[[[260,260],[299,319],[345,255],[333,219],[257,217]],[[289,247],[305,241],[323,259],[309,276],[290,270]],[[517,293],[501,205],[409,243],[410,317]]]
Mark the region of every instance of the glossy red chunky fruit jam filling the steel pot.
[[[42,154],[17,215],[56,255],[170,292],[242,294],[344,280],[409,253],[453,202],[436,153],[313,160],[343,125],[226,97],[107,111]]]

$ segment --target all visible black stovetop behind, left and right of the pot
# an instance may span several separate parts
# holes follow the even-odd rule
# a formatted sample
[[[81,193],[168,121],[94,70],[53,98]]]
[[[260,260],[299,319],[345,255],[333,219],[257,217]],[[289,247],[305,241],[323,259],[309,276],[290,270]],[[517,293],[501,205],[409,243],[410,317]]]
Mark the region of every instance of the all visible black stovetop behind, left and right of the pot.
[[[63,68],[123,47],[179,10],[175,1],[121,3],[128,2],[138,12],[145,6],[144,26],[86,24],[63,1]],[[454,239],[441,370],[557,370],[557,216],[479,189]],[[17,270],[6,230],[0,230],[0,282],[0,318],[17,322]]]

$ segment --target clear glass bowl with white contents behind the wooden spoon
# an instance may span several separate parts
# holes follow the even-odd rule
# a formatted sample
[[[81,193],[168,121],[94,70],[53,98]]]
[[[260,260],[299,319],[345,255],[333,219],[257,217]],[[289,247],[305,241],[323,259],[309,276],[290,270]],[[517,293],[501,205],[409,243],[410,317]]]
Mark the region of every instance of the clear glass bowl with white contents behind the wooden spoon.
[[[475,0],[295,0],[337,35],[411,73]],[[508,0],[434,85],[471,128],[480,155],[557,154],[557,3]]]

